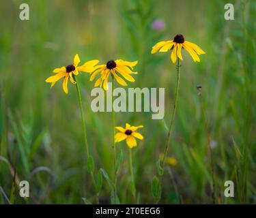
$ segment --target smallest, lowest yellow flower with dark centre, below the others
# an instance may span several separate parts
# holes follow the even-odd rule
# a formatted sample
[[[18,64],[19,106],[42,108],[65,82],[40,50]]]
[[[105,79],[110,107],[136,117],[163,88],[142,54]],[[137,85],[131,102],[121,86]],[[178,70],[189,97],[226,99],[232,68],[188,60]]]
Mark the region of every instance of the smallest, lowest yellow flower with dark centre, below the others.
[[[126,140],[126,144],[130,149],[134,146],[137,146],[137,141],[135,138],[139,138],[139,140],[143,140],[143,136],[137,132],[137,129],[143,128],[143,125],[139,125],[137,127],[130,126],[130,124],[126,123],[126,128],[123,127],[115,127],[118,131],[115,134],[115,142],[121,142],[122,140]]]

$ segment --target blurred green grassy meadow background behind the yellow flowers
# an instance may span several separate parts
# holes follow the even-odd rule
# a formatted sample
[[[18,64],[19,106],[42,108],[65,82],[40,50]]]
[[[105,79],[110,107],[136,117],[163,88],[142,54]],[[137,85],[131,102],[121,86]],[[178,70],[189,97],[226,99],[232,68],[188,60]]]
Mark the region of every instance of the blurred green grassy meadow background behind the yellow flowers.
[[[28,3],[30,20],[19,19]],[[0,202],[33,204],[94,202],[90,177],[83,184],[85,154],[76,90],[61,82],[50,89],[44,80],[76,53],[82,62],[138,60],[136,82],[129,87],[165,87],[165,119],[150,112],[116,114],[116,125],[144,125],[145,140],[134,151],[134,176],[140,203],[152,203],[151,182],[164,151],[175,89],[175,65],[169,53],[151,55],[156,42],[182,33],[206,55],[200,63],[184,52],[180,99],[160,203],[211,203],[210,160],[197,84],[210,126],[216,196],[220,204],[255,203],[256,178],[256,1],[230,0],[235,20],[224,19],[227,1],[189,0],[44,0],[0,1]],[[79,76],[89,147],[96,170],[113,178],[110,112],[90,110],[94,87]],[[127,89],[127,88],[126,88]],[[125,143],[118,195],[132,202]],[[15,182],[14,182],[15,178]],[[30,183],[30,198],[20,198],[18,181]],[[235,183],[235,197],[223,196],[224,183]],[[16,185],[14,185],[16,184]],[[83,187],[86,187],[83,192]],[[86,194],[85,194],[86,193]],[[100,202],[109,202],[104,181]]]

